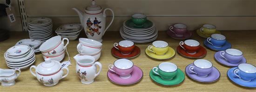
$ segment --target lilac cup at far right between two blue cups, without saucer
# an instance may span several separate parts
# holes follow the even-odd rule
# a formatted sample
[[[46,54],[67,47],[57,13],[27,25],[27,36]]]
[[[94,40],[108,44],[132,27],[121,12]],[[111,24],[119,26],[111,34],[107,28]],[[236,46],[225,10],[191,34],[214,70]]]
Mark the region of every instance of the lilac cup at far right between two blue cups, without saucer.
[[[243,59],[243,52],[237,49],[226,49],[225,51],[221,51],[220,55],[232,64],[236,64]]]

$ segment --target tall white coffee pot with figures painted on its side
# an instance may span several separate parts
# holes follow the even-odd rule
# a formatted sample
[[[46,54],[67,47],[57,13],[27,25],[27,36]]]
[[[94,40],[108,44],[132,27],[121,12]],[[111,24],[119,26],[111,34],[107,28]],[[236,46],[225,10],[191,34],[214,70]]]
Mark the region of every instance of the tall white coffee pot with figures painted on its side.
[[[92,4],[88,7],[86,7],[85,13],[81,12],[80,10],[76,8],[74,9],[80,18],[81,25],[84,27],[85,33],[88,37],[88,39],[94,39],[99,42],[102,41],[102,36],[108,29],[108,27],[112,24],[114,20],[114,12],[113,10],[106,8],[102,9],[101,6],[96,5],[96,2],[92,0]],[[112,13],[112,20],[109,23],[109,25],[106,26],[106,11],[109,10]]]

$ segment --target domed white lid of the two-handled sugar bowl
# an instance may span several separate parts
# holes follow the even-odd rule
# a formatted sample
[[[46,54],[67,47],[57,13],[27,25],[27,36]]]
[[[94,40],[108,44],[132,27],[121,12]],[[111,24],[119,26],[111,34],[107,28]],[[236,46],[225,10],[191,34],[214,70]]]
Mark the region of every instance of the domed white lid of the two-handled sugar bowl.
[[[61,69],[61,63],[55,60],[46,58],[44,62],[40,63],[36,67],[36,71],[40,74],[53,74],[59,72]]]

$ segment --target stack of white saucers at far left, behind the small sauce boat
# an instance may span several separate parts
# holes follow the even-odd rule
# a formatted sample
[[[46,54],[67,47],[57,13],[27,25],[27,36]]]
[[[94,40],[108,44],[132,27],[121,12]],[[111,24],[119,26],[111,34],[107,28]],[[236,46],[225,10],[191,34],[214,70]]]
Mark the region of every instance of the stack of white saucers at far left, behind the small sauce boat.
[[[4,54],[6,64],[10,68],[26,69],[35,61],[34,49],[27,45],[13,46]]]

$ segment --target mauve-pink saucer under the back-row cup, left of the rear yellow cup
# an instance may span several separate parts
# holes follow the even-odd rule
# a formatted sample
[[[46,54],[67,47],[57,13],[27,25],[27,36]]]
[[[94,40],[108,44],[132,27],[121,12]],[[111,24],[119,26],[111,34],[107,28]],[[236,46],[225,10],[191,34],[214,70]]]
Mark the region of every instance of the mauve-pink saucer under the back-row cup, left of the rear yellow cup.
[[[192,36],[190,31],[187,31],[182,37],[176,36],[175,33],[171,31],[167,31],[167,34],[173,39],[189,39]]]

